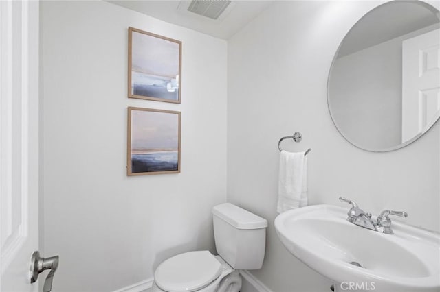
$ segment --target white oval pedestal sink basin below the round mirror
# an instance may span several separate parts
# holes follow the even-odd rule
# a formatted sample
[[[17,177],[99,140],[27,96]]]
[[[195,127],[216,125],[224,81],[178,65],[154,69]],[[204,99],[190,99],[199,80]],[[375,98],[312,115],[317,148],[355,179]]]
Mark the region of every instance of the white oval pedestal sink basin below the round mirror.
[[[335,291],[440,291],[440,234],[393,221],[395,234],[347,221],[348,208],[283,212],[276,233],[289,252],[335,283]]]

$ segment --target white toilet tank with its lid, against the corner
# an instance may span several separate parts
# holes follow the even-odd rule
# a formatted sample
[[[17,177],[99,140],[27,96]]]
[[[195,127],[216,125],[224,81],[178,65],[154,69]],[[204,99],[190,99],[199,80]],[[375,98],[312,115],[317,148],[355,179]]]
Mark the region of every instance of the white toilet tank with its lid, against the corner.
[[[234,269],[260,269],[267,220],[230,203],[214,206],[212,215],[219,256]]]

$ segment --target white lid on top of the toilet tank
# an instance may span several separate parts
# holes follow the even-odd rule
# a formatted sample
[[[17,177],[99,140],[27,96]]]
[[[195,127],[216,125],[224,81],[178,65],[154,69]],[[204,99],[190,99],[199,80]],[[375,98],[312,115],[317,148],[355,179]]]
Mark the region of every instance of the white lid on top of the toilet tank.
[[[212,214],[238,229],[259,229],[267,227],[266,219],[230,203],[214,206],[214,208],[212,208]]]

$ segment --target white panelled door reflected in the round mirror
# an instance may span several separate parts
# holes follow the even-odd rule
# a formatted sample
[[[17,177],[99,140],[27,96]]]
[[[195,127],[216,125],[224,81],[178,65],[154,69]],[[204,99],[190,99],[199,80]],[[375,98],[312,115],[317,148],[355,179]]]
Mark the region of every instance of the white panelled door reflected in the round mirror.
[[[440,29],[404,40],[402,142],[423,134],[440,115]]]

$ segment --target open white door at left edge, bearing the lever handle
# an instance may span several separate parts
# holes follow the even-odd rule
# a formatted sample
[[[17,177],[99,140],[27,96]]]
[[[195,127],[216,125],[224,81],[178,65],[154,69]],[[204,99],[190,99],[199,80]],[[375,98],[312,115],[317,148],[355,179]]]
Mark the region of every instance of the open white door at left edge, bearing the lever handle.
[[[0,1],[0,291],[38,291],[39,2]]]

